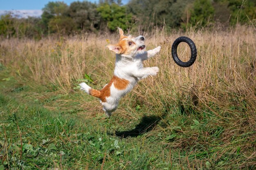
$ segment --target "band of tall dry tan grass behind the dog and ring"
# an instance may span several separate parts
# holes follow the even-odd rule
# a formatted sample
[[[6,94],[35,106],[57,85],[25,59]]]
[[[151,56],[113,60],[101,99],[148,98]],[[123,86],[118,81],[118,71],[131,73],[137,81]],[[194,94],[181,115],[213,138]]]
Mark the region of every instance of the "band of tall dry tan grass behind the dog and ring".
[[[181,35],[190,37],[198,49],[198,58],[189,68],[177,66],[171,57],[171,45]],[[220,100],[220,105],[225,106],[230,97],[255,102],[255,29],[237,26],[232,31],[191,30],[187,33],[162,30],[145,36],[148,49],[161,45],[162,50],[157,57],[145,62],[145,66],[158,66],[159,74],[143,80],[132,92],[144,102],[161,107],[163,102],[177,100],[176,95],[182,95],[183,91],[189,91],[190,95],[182,98],[191,97],[198,104]],[[53,83],[66,93],[85,73],[91,75],[95,88],[101,88],[112,76],[115,65],[115,55],[105,46],[117,40],[117,35],[90,34],[40,41],[2,40],[0,61],[22,79],[43,85]],[[181,43],[178,54],[182,60],[188,60],[188,46]],[[161,96],[161,102],[155,95]]]

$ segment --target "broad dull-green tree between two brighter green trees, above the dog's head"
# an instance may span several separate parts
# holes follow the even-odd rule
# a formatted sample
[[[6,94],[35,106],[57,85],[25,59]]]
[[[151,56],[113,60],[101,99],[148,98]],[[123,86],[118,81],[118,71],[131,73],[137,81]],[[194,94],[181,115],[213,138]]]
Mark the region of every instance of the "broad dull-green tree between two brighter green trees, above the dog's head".
[[[173,28],[180,26],[182,17],[193,0],[131,0],[128,11],[136,16],[141,25],[155,25]],[[143,9],[143,10],[141,10]]]

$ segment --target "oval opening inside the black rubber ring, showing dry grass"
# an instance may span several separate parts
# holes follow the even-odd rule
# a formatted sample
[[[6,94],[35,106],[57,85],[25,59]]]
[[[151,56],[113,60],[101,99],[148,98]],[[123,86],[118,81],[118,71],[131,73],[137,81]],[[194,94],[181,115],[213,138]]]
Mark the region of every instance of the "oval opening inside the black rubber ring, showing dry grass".
[[[186,42],[180,42],[177,47],[177,55],[182,62],[188,62],[191,57],[189,44]]]

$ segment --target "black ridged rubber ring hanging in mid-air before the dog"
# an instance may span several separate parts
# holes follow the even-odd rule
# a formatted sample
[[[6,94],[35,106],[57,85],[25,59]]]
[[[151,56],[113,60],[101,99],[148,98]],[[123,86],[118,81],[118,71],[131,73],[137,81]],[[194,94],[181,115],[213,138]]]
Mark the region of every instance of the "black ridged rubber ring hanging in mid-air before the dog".
[[[191,57],[189,59],[189,61],[187,62],[182,62],[180,60],[180,58],[177,55],[177,47],[180,44],[180,42],[186,42],[187,44],[189,44],[190,50],[191,50]],[[173,60],[176,64],[178,64],[181,67],[189,67],[191,66],[196,59],[197,56],[197,51],[196,51],[196,46],[195,43],[188,37],[179,37],[177,38],[174,42],[173,42],[173,46],[172,46],[172,56],[173,56]]]

